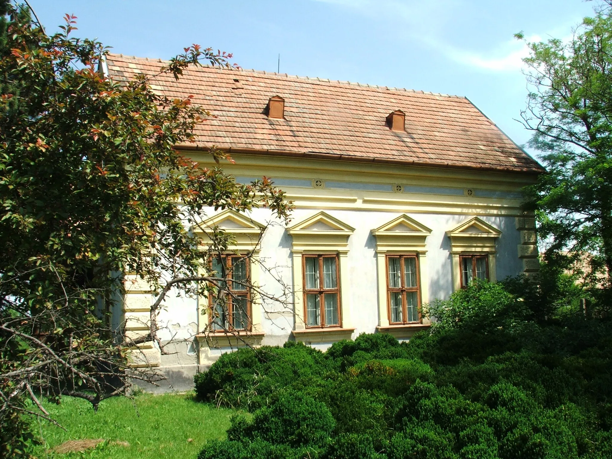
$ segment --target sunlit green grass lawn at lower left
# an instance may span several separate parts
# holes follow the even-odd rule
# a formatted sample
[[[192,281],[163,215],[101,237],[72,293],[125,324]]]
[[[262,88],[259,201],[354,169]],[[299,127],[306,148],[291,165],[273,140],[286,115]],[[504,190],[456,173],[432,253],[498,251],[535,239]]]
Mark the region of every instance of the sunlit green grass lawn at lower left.
[[[43,444],[39,458],[195,458],[208,439],[225,438],[236,412],[193,400],[193,394],[137,395],[102,401],[97,412],[77,398],[45,408],[66,431],[46,421],[35,421]],[[104,439],[86,452],[58,453],[69,440]]]

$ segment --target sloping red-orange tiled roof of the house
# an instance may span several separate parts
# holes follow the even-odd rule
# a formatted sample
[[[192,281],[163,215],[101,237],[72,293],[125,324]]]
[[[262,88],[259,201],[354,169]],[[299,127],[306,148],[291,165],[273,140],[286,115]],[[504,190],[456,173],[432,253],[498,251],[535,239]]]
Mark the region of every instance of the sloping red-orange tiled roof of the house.
[[[134,73],[158,73],[165,62],[109,54],[106,64],[114,81],[127,81]],[[170,97],[193,95],[193,103],[217,117],[196,128],[200,147],[543,171],[465,97],[195,66],[185,70],[179,81],[164,74],[155,77],[151,86]],[[274,95],[285,99],[285,119],[267,118],[266,106]],[[386,117],[395,110],[406,114],[406,132],[387,127]]]

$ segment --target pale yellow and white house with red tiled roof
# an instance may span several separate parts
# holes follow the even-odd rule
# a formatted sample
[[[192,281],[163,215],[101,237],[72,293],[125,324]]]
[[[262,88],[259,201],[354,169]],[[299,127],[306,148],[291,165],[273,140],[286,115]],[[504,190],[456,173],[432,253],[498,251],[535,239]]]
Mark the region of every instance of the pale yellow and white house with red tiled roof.
[[[125,81],[162,65],[111,54],[103,68]],[[278,296],[289,288],[289,306],[244,296],[229,319],[241,338],[215,331],[206,298],[169,299],[160,321],[196,339],[174,356],[146,349],[166,375],[188,379],[242,339],[321,349],[362,332],[406,339],[428,327],[420,305],[472,278],[538,269],[534,218],[520,205],[521,188],[543,169],[464,97],[211,67],[179,81],[159,76],[152,88],[193,95],[217,117],[198,127],[194,145],[177,146],[186,155],[212,165],[214,144],[236,160],[224,167],[237,181],[272,177],[296,205],[288,227],[268,209],[204,216],[236,235],[235,253],[255,250],[261,263],[242,275]],[[121,316],[128,330],[151,301],[135,282]]]

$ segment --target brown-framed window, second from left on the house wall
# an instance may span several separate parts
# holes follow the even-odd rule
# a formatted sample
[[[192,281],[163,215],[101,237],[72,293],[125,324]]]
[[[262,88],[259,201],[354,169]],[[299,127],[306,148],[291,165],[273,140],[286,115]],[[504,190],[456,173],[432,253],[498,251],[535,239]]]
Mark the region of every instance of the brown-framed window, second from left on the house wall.
[[[304,255],[304,309],[308,327],[340,326],[337,255]]]

